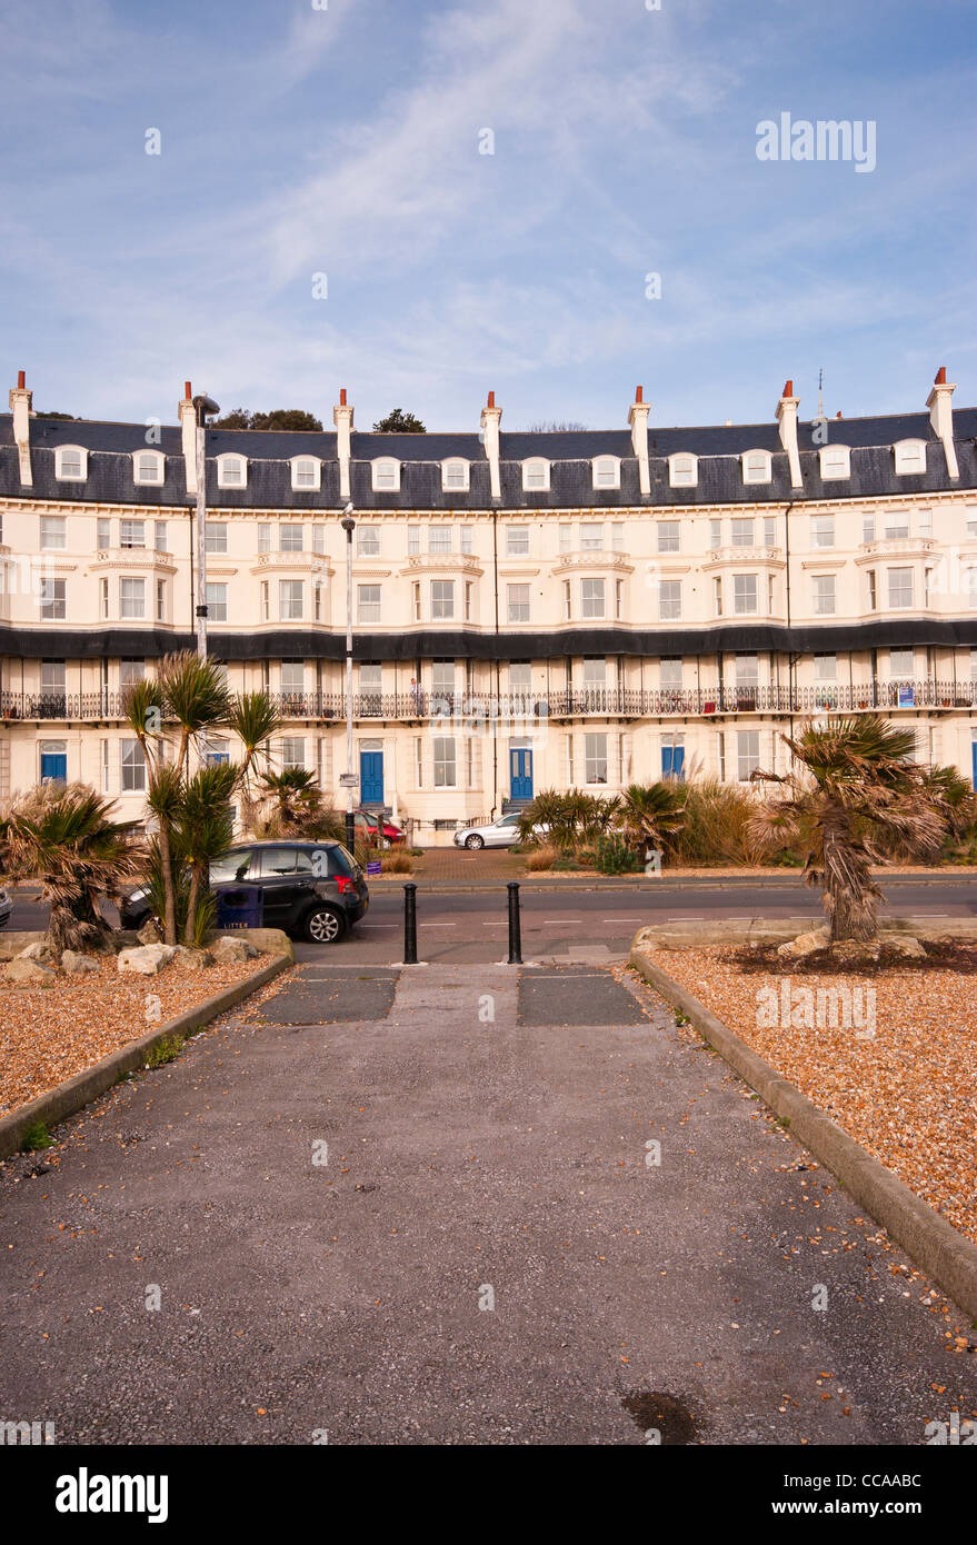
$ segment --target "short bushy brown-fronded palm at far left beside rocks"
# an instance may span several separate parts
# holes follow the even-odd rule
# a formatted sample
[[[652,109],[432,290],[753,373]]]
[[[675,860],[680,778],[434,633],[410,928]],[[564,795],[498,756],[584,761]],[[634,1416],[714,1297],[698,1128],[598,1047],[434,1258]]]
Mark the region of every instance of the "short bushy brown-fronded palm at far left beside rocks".
[[[51,907],[51,949],[102,949],[111,932],[99,901],[117,901],[145,853],[131,822],[85,783],[42,783],[0,811],[0,871],[11,884],[40,879]]]

